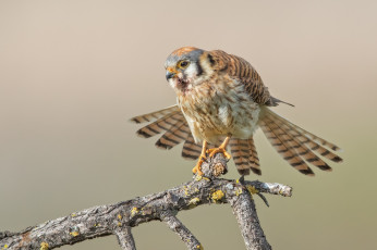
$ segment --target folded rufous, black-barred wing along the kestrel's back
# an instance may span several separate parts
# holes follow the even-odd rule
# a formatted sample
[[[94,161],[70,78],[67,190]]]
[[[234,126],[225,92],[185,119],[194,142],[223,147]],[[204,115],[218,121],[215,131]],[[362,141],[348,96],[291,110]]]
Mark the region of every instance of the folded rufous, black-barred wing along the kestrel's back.
[[[242,83],[256,103],[277,105],[278,102],[282,102],[270,96],[259,74],[246,60],[221,50],[209,51],[208,57],[215,70],[224,72]]]

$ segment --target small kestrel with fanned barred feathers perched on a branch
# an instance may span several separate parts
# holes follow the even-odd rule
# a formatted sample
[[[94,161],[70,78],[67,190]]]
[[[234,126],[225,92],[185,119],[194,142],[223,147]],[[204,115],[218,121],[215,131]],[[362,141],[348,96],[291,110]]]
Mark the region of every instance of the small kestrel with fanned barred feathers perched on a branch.
[[[244,59],[222,50],[195,47],[174,50],[166,60],[166,78],[177,104],[131,118],[149,123],[137,135],[162,134],[156,146],[171,149],[183,142],[182,157],[197,160],[194,174],[216,153],[233,158],[241,175],[260,175],[253,135],[262,128],[276,151],[300,173],[314,176],[311,166],[332,168],[321,159],[342,162],[340,148],[272,111],[280,103],[270,95],[256,70]],[[230,148],[230,153],[227,151]]]

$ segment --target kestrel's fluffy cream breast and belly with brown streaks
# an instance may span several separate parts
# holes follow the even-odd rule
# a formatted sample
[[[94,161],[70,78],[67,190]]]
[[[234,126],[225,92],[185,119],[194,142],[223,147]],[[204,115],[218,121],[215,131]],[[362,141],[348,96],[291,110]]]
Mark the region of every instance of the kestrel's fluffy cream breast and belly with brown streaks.
[[[217,143],[227,135],[248,138],[256,128],[259,105],[230,78],[211,78],[178,100],[197,142]]]

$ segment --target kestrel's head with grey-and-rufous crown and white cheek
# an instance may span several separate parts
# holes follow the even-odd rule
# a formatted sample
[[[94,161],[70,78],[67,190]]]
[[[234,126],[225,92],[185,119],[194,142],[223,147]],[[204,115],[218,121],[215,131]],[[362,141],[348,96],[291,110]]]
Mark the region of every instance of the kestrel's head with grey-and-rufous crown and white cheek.
[[[168,57],[166,76],[175,91],[187,92],[210,76],[212,70],[207,54],[194,47],[183,47]]]

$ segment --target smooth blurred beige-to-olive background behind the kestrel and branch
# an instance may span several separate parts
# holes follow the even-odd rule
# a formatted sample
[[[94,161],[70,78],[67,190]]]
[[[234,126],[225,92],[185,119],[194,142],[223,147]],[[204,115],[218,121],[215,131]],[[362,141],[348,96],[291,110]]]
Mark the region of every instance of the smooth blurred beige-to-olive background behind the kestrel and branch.
[[[175,102],[163,62],[182,46],[243,57],[276,112],[344,149],[307,177],[260,132],[263,175],[292,198],[256,197],[276,249],[376,249],[376,1],[1,1],[0,230],[187,182],[181,147],[156,149],[129,118]],[[230,163],[228,178],[238,178]],[[205,249],[244,249],[229,205],[179,213]],[[165,224],[133,229],[138,249],[185,249]],[[119,249],[114,237],[62,249]]]

